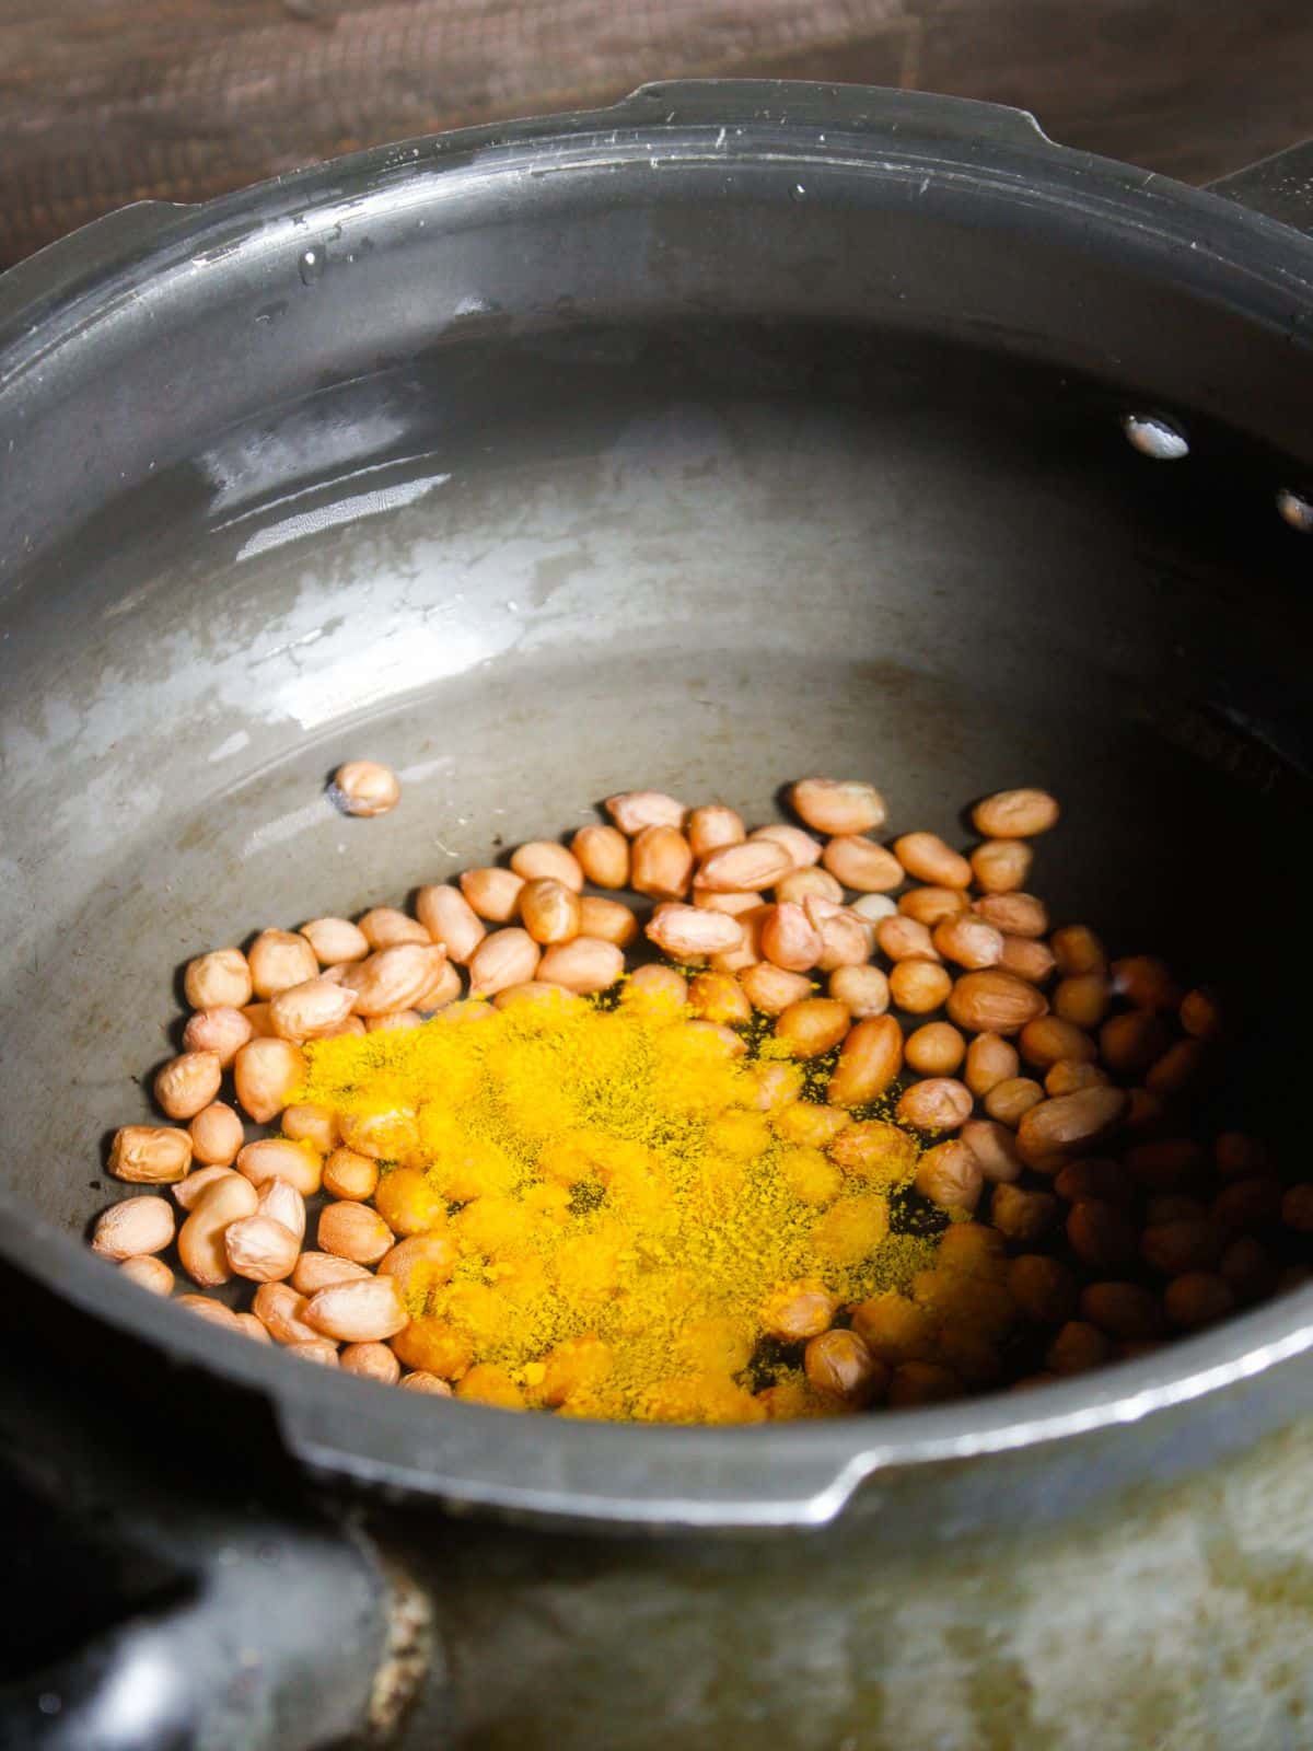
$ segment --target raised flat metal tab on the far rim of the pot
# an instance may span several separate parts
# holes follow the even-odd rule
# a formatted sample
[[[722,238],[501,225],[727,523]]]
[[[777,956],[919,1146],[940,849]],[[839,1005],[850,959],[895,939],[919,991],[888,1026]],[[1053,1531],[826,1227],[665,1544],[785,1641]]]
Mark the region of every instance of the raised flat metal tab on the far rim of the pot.
[[[793,123],[821,130],[907,133],[1059,151],[1029,110],[979,98],[886,86],[832,86],[802,79],[664,79],[639,86],[607,117],[656,126]]]

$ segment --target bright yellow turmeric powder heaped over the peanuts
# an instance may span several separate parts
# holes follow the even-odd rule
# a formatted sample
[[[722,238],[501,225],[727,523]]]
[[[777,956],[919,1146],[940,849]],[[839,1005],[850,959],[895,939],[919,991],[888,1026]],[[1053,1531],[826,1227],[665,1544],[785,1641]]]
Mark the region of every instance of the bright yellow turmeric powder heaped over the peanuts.
[[[380,1210],[403,1203],[396,1177],[452,1241],[450,1269],[406,1276],[403,1361],[464,1376],[457,1396],[572,1417],[833,1411],[797,1362],[767,1366],[765,1310],[800,1278],[839,1304],[910,1287],[933,1241],[891,1229],[889,1194],[917,1150],[872,1126],[881,1171],[867,1149],[849,1173],[800,1142],[844,1121],[790,1117],[804,1079],[749,1038],[760,1056],[735,1059],[671,1000],[562,993],[310,1042],[296,1100],[380,1159]]]

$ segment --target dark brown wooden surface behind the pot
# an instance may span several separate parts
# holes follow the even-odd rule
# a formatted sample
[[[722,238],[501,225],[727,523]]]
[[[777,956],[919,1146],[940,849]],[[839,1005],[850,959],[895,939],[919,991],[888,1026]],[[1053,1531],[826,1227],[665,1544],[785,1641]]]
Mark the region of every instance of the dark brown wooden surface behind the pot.
[[[1208,180],[1313,135],[1313,0],[0,0],[0,266],[124,201],[713,74],[1019,103]]]

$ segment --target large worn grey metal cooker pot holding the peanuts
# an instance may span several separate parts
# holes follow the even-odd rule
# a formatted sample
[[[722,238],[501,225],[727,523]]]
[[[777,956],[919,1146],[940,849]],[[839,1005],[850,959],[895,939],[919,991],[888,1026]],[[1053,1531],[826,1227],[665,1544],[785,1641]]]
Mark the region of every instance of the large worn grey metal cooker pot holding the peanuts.
[[[1024,1396],[639,1429],[296,1368],[79,1231],[165,968],[634,783],[851,769],[949,835],[1052,786],[1047,890],[1206,944],[1218,1112],[1294,1124],[1311,163],[649,86],[0,280],[2,1422],[56,1567],[133,1551],[28,1613],[14,1742],[327,1744],[425,1656],[425,1746],[1306,1742],[1308,1292]],[[368,826],[320,797],[362,751]]]

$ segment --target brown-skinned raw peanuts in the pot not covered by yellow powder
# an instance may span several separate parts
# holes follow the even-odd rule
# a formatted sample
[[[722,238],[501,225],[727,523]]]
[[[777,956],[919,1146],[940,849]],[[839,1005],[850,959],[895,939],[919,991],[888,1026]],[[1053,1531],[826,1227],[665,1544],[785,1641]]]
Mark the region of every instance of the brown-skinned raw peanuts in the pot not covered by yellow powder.
[[[369,762],[338,781],[348,812],[399,797]],[[184,1051],[154,1079],[172,1122],[121,1128],[109,1161],[173,1203],[116,1203],[95,1250],[161,1296],[175,1287],[170,1250],[200,1290],[250,1282],[249,1310],[193,1292],[179,1304],[310,1361],[448,1394],[436,1373],[406,1371],[406,1289],[445,1212],[422,1175],[380,1175],[368,1126],[343,1136],[324,1108],[289,1105],[301,1047],[453,1007],[474,1019],[551,989],[599,995],[625,977],[669,989],[728,1052],[769,1017],[823,1075],[809,1131],[842,1171],[877,1124],[863,1108],[893,1100],[924,1145],[916,1192],[952,1217],[945,1257],[975,1280],[996,1338],[1028,1333],[1007,1364],[994,1345],[987,1366],[951,1366],[916,1296],[882,1296],[812,1336],[819,1390],[912,1404],[1049,1380],[1304,1280],[1292,1247],[1313,1231],[1313,1185],[1285,1185],[1255,1138],[1201,1138],[1190,1122],[1222,1035],[1213,998],[1157,958],[1110,961],[1087,926],[1054,928],[1026,891],[1031,840],[1059,816],[1052,797],[987,797],[965,854],[928,832],[872,837],[886,805],[867,783],[802,779],[790,805],[795,823],[748,832],[730,807],[628,791],[569,846],[534,840],[506,867],[422,888],[415,916],[373,907],[198,956]],[[664,960],[630,968],[642,937]]]

